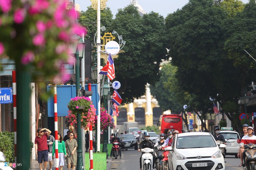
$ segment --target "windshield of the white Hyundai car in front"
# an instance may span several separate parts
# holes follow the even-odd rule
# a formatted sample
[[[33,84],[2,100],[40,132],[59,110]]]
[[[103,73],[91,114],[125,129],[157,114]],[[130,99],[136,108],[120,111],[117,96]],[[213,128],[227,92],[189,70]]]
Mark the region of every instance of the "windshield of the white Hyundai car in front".
[[[216,147],[214,138],[210,135],[193,135],[178,137],[176,142],[177,149],[186,148],[209,148]]]

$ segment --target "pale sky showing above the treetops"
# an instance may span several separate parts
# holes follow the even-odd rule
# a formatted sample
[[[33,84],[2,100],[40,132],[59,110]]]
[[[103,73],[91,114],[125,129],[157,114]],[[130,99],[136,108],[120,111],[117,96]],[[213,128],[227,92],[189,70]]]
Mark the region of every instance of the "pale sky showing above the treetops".
[[[75,4],[81,6],[81,11],[86,11],[88,6],[92,5],[90,0],[74,0]],[[164,18],[169,14],[181,9],[189,0],[138,0],[138,4],[147,13],[154,11],[162,15]],[[247,3],[248,0],[242,0]],[[115,18],[117,9],[124,8],[131,3],[130,0],[108,0],[106,6],[110,8]]]

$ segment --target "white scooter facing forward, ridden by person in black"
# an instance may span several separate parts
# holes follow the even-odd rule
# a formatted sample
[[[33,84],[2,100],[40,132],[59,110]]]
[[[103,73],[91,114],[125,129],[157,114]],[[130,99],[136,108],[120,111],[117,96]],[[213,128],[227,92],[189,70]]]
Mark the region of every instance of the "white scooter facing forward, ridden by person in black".
[[[154,169],[153,155],[151,154],[152,152],[154,152],[154,149],[144,148],[144,149],[141,149],[141,152],[143,152],[143,154],[141,156],[142,170]]]

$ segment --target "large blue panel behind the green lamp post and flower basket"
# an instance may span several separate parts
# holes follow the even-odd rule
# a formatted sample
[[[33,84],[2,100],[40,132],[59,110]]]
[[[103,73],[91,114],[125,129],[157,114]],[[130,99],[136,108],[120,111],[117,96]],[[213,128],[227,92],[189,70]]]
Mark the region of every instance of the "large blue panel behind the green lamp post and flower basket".
[[[81,86],[80,86],[81,87]],[[98,101],[100,99],[97,90],[97,84],[92,84],[92,104],[98,110]],[[47,86],[47,90],[53,86]],[[88,90],[88,85],[85,85]],[[76,85],[57,85],[57,112],[58,116],[68,116],[68,102],[71,98],[76,97]],[[48,101],[48,117],[54,117],[54,100],[51,97]],[[96,111],[96,115],[98,112]]]

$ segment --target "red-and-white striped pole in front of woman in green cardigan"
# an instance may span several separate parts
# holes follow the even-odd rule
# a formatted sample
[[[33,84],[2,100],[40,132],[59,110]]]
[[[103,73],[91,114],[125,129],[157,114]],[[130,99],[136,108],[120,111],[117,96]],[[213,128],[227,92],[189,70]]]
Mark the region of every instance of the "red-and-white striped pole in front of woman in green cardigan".
[[[54,85],[55,170],[59,170],[57,86]]]

